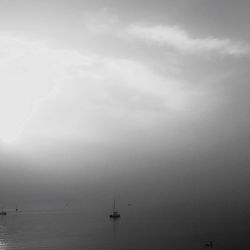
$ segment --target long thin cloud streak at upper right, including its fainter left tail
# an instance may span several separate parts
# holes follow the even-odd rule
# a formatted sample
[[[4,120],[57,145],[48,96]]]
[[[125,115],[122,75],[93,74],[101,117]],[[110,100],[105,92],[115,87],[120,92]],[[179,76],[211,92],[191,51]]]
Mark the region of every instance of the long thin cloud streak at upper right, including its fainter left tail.
[[[179,26],[142,25],[124,22],[107,9],[100,12],[86,13],[84,24],[93,34],[116,36],[120,39],[136,39],[150,45],[169,47],[187,54],[217,53],[222,55],[242,56],[250,53],[250,45],[229,38],[192,36]]]

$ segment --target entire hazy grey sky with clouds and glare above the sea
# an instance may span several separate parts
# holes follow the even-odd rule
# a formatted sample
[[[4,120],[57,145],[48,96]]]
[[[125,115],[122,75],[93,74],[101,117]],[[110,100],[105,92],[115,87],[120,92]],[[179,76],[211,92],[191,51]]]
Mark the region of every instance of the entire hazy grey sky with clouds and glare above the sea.
[[[244,0],[0,0],[3,203],[249,207],[249,12]]]

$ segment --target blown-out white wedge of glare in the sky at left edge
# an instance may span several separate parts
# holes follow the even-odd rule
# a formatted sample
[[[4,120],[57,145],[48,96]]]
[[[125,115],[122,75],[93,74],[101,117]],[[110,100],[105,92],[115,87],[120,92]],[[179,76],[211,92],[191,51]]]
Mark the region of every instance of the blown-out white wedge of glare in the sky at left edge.
[[[0,37],[0,139],[13,141],[36,102],[70,79],[78,67],[88,67],[94,56],[55,50],[41,42]]]

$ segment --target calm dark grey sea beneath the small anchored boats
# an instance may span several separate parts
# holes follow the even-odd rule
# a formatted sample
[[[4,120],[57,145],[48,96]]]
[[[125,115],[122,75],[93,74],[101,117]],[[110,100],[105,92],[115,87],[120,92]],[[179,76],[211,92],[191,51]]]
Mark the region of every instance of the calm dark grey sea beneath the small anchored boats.
[[[125,213],[111,220],[105,212],[33,211],[10,212],[0,217],[1,250],[185,250],[208,249],[206,241],[216,242],[214,249],[250,249],[245,234],[202,216],[161,216],[145,212]],[[207,227],[204,226],[207,223]],[[233,222],[232,222],[233,223]],[[238,229],[239,229],[238,228]],[[213,237],[213,238],[212,238]]]

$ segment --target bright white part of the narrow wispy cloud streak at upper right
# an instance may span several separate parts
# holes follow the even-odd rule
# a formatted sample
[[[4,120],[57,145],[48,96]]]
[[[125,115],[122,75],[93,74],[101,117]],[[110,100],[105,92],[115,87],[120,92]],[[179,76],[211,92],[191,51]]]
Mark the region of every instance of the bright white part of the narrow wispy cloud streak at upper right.
[[[136,39],[158,46],[169,46],[177,51],[196,54],[217,52],[225,55],[246,55],[250,53],[250,46],[242,42],[216,37],[193,38],[188,32],[177,26],[143,26],[132,24],[127,33]]]

